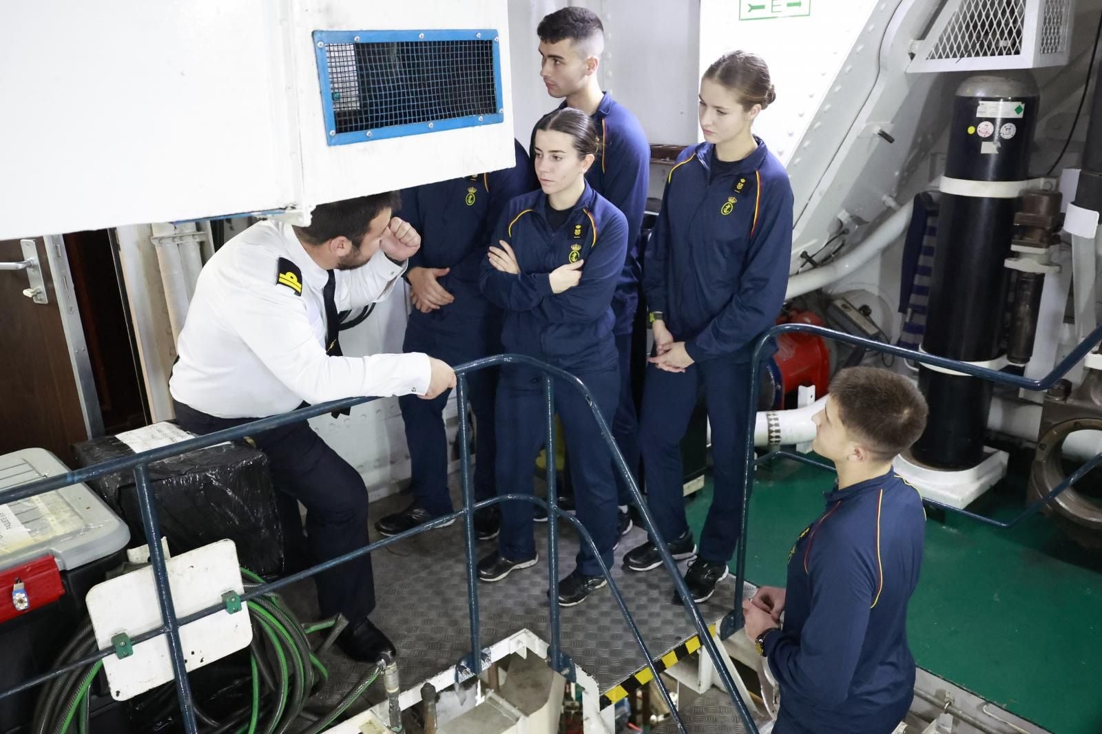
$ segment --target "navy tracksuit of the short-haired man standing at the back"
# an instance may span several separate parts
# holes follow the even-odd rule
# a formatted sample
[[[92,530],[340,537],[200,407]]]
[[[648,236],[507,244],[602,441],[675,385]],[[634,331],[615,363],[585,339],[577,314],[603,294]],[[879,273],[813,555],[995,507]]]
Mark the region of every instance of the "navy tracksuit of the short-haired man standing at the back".
[[[565,106],[563,102],[560,109]],[[639,427],[635,399],[631,397],[631,326],[639,305],[639,280],[642,276],[639,267],[639,230],[647,208],[650,145],[639,120],[607,91],[602,97],[597,111],[593,114],[593,121],[597,126],[602,145],[597,160],[585,173],[585,180],[627,218],[627,256],[613,295],[613,313],[616,316],[613,334],[616,336],[616,352],[619,355],[620,385],[612,429],[616,445],[634,472],[639,466]],[[533,145],[534,136],[533,131]],[[533,148],[529,150],[533,151]],[[619,481],[618,473],[616,476],[619,504],[626,505],[630,499],[627,486]]]

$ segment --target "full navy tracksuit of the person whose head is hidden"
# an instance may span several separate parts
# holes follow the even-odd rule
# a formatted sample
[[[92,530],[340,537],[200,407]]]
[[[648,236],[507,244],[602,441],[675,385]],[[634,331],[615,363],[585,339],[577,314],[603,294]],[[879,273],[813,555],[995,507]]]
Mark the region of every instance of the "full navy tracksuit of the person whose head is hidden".
[[[500,354],[501,313],[478,288],[478,269],[486,259],[489,235],[506,205],[537,186],[523,147],[514,141],[514,168],[402,192],[402,217],[421,234],[413,268],[451,268],[437,282],[455,301],[429,313],[417,309],[406,326],[404,352],[423,352],[450,365]],[[408,272],[408,271],[407,271]],[[477,421],[475,497],[494,496],[496,462],[494,391],[496,370],[467,376],[467,395]],[[451,390],[432,400],[415,395],[398,399],[406,423],[412,472],[411,488],[422,509],[433,517],[453,511],[447,492],[447,438],[443,411]]]

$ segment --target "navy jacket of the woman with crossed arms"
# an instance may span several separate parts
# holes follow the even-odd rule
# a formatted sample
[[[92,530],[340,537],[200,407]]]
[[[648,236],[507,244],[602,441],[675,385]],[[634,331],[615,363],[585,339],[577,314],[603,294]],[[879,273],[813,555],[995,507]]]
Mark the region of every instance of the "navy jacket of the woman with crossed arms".
[[[506,311],[505,350],[573,373],[614,368],[612,300],[627,251],[627,223],[588,184],[557,229],[548,224],[547,206],[542,191],[514,198],[490,240],[509,242],[520,274],[495,270],[488,259],[482,266],[483,293]],[[581,282],[552,293],[551,271],[579,259],[585,261]]]

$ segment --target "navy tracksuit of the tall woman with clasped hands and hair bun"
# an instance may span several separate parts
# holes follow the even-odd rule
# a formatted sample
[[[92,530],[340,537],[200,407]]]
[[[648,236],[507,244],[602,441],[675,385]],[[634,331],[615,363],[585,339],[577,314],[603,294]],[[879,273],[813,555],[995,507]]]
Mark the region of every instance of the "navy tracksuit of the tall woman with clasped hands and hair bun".
[[[644,290],[693,358],[684,373],[647,369],[639,443],[648,504],[666,542],[688,531],[681,439],[701,389],[712,427],[714,494],[700,555],[726,563],[743,505],[749,360],[785,301],[792,252],[792,187],[758,140],[716,165],[714,147],[687,148],[670,170],[647,249]]]

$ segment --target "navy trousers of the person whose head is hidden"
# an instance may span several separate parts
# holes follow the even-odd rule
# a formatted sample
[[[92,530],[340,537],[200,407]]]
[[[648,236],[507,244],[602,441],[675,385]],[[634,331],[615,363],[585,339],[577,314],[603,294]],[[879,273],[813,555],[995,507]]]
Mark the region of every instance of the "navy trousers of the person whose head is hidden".
[[[437,313],[410,314],[403,352],[424,352],[453,366],[501,353],[501,320],[496,312],[466,319],[435,319]],[[495,494],[497,368],[471,373],[466,380],[467,400],[475,414],[475,501],[480,501]],[[451,390],[446,390],[432,400],[415,395],[398,398],[410,451],[410,488],[421,508],[433,517],[454,511],[447,492],[447,436],[443,414],[450,395]]]

